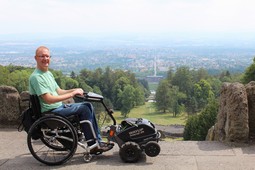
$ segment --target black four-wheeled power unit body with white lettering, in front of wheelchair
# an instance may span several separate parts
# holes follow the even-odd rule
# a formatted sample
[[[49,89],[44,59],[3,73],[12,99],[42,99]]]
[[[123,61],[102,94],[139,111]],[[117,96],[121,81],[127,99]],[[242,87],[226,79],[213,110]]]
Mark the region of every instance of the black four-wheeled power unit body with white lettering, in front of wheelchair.
[[[157,156],[160,136],[154,124],[143,118],[127,118],[120,125],[112,125],[109,131],[109,140],[119,145],[124,162],[137,162],[143,151],[150,157]]]

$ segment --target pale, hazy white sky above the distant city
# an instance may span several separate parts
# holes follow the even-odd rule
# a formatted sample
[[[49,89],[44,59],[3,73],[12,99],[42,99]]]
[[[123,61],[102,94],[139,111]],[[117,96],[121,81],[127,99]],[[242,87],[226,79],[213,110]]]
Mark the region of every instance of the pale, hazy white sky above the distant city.
[[[11,34],[255,35],[254,0],[0,0]]]

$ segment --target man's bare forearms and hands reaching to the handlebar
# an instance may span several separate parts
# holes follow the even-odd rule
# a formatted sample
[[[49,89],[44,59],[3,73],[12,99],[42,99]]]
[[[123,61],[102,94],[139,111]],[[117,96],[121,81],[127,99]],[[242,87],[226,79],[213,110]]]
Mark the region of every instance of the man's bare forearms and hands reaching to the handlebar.
[[[50,93],[45,93],[45,94],[42,94],[41,97],[46,103],[52,104],[52,103],[56,103],[56,102],[60,102],[60,101],[72,98],[75,95],[83,95],[83,90],[80,88],[70,89],[70,90],[63,90],[58,88],[57,93],[58,93],[58,96],[53,96]]]

